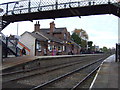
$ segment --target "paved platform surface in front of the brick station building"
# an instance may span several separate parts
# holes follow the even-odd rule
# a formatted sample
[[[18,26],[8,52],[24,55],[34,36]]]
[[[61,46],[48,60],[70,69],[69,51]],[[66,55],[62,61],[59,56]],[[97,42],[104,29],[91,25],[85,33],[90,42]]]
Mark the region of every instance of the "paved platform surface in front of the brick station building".
[[[2,68],[0,68],[0,70],[7,69],[10,67],[19,65],[19,64],[26,63],[26,62],[30,62],[30,61],[33,61],[35,59],[56,58],[56,57],[72,57],[72,56],[85,56],[85,55],[21,56],[21,57],[5,58],[5,59],[3,59]]]

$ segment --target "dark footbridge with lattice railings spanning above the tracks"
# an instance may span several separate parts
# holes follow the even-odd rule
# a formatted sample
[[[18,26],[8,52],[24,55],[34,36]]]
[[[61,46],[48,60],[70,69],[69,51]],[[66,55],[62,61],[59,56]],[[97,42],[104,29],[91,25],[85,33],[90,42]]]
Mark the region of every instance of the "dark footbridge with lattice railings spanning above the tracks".
[[[113,14],[120,17],[119,0],[20,0],[0,4],[2,29],[17,21]]]

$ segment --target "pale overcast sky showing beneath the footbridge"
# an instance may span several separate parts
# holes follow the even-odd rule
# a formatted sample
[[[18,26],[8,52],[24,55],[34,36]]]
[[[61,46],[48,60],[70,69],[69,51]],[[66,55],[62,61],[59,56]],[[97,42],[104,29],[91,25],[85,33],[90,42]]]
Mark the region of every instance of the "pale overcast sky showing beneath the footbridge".
[[[15,1],[15,0],[9,0]],[[8,0],[0,0],[0,3],[8,2]],[[21,35],[25,31],[32,32],[34,30],[34,24],[38,20],[33,22],[15,22],[9,24],[2,32],[5,35],[16,35],[17,24],[18,34]],[[39,20],[41,28],[49,28],[49,23],[52,19]],[[69,17],[69,18],[57,18],[54,20],[56,27],[66,27],[69,32],[72,32],[75,28],[84,29],[89,35],[89,41],[97,46],[108,48],[115,47],[118,42],[118,17],[114,15],[94,15],[94,16],[82,16]]]

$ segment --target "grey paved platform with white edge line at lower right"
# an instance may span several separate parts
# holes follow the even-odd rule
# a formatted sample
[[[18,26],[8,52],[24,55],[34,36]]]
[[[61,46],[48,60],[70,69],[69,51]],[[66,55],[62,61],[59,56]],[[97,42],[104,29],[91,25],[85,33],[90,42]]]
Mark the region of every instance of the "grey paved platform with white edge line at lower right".
[[[98,70],[95,79],[91,85],[91,89],[94,88],[119,88],[118,83],[118,68],[119,62],[115,62],[115,55],[108,57],[104,60],[101,68]]]

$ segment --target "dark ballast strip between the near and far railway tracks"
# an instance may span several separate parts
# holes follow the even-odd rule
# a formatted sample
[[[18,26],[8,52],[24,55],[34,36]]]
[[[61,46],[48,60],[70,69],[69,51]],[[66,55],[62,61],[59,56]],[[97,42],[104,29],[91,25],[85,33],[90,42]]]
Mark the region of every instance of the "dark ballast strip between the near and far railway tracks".
[[[82,60],[82,61],[78,61],[78,62],[76,61],[74,63],[71,62],[68,64],[61,65],[61,66],[59,65],[59,67],[58,66],[53,67],[53,68],[51,68],[51,70],[48,70],[48,71],[46,70],[45,72],[43,71],[42,73],[36,73],[36,74],[28,75],[28,76],[11,79],[11,80],[3,83],[3,88],[31,89],[35,86],[39,86],[39,84],[49,82],[49,81],[53,80],[54,78],[60,77],[61,75],[64,75],[71,71],[74,71],[80,67],[84,67],[84,65],[88,65],[91,62],[96,62],[97,58],[93,57],[91,59],[93,59],[93,60]]]

